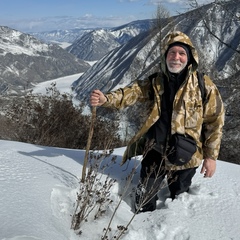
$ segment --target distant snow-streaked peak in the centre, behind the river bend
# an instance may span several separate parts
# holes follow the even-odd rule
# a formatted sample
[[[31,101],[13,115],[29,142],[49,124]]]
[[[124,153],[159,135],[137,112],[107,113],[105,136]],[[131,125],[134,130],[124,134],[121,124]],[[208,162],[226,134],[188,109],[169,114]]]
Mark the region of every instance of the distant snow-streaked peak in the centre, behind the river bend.
[[[67,47],[67,51],[80,59],[96,61],[131,38],[146,32],[152,25],[153,20],[139,20],[116,28],[96,29],[77,39]]]

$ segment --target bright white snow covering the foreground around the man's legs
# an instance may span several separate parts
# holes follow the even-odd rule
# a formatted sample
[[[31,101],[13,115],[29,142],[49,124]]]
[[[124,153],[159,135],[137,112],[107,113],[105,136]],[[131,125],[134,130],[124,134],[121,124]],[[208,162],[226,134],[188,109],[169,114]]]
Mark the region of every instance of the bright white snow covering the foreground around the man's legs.
[[[61,80],[57,84],[60,86]],[[37,88],[40,91],[40,86]],[[84,150],[0,140],[0,239],[100,240],[125,189],[127,176],[140,164],[141,157],[138,157],[121,166],[124,150],[114,150],[112,156],[117,157],[116,163],[104,173],[116,179],[111,188],[113,203],[99,219],[88,219],[79,236],[70,226]],[[212,178],[204,178],[198,168],[189,193],[172,201],[168,189],[162,189],[157,209],[137,214],[121,239],[238,240],[239,171],[239,165],[220,160]],[[133,216],[130,193],[138,177],[139,167],[113,218],[113,232]]]

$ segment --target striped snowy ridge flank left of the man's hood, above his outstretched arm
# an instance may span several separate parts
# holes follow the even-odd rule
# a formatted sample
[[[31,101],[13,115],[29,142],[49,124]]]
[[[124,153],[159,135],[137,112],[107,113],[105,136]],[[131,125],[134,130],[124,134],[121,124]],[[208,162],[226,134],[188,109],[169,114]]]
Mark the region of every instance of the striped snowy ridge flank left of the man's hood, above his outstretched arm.
[[[74,82],[77,97],[82,99],[98,88],[103,92],[121,85],[127,85],[135,76],[143,74],[143,67],[154,67],[152,62],[157,58],[157,49],[151,50],[151,36],[144,33],[132,38],[129,42],[112,50],[95,63],[82,77]],[[147,52],[150,56],[144,57]],[[89,81],[91,79],[91,81]]]

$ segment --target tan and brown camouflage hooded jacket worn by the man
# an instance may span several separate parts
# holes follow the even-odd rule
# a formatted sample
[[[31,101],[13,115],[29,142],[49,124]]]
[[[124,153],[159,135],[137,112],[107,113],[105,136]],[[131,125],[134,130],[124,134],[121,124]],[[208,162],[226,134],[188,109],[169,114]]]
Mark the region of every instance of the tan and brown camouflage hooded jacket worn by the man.
[[[190,162],[183,166],[175,166],[165,159],[167,169],[180,170],[198,167],[203,158],[217,159],[222,138],[224,125],[224,107],[220,93],[215,84],[208,76],[204,76],[206,88],[206,102],[202,102],[201,91],[198,87],[196,70],[198,67],[198,55],[190,39],[181,32],[169,34],[164,40],[162,52],[161,70],[166,74],[165,51],[174,42],[188,44],[193,60],[188,67],[185,81],[180,86],[173,102],[171,120],[171,133],[188,134],[197,143],[197,151]],[[154,100],[150,98],[150,92],[154,92]],[[129,141],[123,156],[123,163],[133,156],[141,155],[144,142],[144,135],[149,128],[159,119],[161,115],[161,95],[164,92],[163,78],[161,74],[145,80],[136,80],[130,86],[120,88],[114,92],[107,93],[107,102],[104,107],[122,109],[133,105],[137,101],[149,101],[152,104],[151,111],[136,135]],[[204,140],[203,140],[204,139]]]

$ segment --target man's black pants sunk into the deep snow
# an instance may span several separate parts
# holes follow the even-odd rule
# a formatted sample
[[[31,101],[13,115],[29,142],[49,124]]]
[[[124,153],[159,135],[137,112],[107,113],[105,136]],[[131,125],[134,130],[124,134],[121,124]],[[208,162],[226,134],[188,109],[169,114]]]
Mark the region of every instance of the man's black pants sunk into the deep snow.
[[[164,160],[162,155],[155,151],[150,150],[142,160],[142,167],[140,172],[141,182],[147,182],[146,189],[149,190],[152,184],[155,184],[155,194],[157,194],[162,180],[167,175],[168,188],[171,198],[174,199],[176,195],[187,192],[192,183],[192,178],[196,173],[196,168],[188,168],[177,171],[165,170]],[[152,198],[153,200],[156,198]]]

